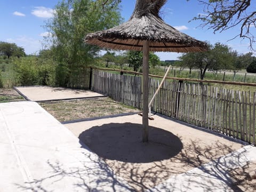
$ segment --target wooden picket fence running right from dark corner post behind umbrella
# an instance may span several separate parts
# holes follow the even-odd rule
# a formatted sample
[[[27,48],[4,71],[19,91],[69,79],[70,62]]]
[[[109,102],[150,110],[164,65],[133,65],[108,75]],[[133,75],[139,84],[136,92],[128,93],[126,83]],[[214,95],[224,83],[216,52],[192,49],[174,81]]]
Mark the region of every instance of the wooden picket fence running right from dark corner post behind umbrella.
[[[150,78],[153,97],[159,79]],[[142,107],[141,77],[93,70],[92,90],[125,105]],[[256,93],[219,89],[202,83],[166,80],[152,110],[255,145]]]

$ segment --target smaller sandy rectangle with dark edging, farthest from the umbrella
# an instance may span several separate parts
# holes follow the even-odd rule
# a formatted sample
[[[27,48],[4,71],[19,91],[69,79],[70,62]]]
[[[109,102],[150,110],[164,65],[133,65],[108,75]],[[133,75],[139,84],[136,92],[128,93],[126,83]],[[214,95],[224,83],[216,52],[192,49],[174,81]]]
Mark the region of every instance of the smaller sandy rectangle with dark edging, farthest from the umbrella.
[[[30,101],[61,100],[73,98],[102,97],[102,94],[89,90],[76,90],[50,86],[15,87]]]

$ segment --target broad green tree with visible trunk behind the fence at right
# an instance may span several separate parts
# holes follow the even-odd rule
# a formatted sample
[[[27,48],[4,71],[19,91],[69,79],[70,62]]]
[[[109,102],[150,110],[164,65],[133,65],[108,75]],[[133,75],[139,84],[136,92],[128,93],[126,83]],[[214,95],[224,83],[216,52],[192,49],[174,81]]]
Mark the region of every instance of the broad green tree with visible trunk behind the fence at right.
[[[231,49],[221,43],[211,45],[209,51],[206,52],[183,54],[179,59],[181,66],[188,67],[190,70],[199,69],[201,79],[204,79],[207,69],[215,72],[220,69],[227,69],[231,67],[233,61]]]

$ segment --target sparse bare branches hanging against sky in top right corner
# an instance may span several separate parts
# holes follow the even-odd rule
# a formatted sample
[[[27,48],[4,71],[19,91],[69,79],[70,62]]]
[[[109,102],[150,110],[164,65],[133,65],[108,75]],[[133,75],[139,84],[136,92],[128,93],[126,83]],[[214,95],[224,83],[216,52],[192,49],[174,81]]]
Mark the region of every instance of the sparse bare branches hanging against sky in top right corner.
[[[189,0],[187,0],[189,1]],[[203,14],[199,14],[194,20],[201,20],[202,27],[213,29],[214,33],[222,32],[236,26],[240,27],[235,37],[247,38],[253,49],[255,33],[252,27],[256,27],[256,11],[251,0],[197,0],[204,5]]]

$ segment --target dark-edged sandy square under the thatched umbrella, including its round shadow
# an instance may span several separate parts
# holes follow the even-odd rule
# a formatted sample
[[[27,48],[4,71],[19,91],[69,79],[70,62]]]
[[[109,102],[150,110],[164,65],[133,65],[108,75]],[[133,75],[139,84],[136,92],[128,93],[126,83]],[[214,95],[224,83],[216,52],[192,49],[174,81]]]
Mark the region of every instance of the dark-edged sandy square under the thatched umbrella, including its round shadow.
[[[239,143],[154,116],[149,143],[141,142],[139,115],[66,124],[137,191],[242,148]]]

